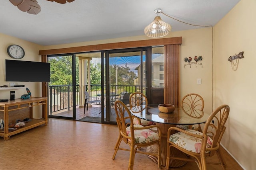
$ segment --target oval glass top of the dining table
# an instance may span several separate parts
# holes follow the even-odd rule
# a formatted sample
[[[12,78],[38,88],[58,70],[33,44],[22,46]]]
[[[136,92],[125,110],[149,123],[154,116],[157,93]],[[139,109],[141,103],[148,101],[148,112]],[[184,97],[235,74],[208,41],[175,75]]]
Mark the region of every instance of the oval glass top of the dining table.
[[[156,123],[165,123],[172,125],[193,125],[205,123],[210,114],[198,109],[190,107],[175,108],[172,113],[162,113],[158,109],[158,104],[149,104],[143,111],[141,108],[145,106],[136,106],[130,109],[132,115]]]

